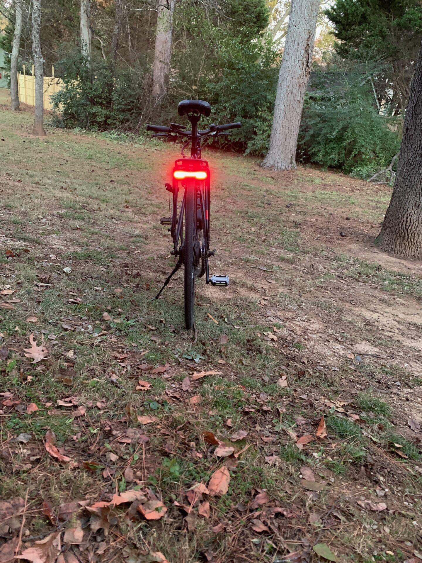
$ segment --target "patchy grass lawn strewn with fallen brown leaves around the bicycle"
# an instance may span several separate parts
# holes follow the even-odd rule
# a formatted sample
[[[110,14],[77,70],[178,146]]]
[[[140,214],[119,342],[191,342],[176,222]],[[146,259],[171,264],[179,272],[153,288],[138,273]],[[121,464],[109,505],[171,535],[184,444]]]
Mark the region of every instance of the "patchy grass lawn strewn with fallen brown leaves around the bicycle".
[[[384,378],[402,386],[419,380],[394,356],[394,342],[388,342],[395,358],[390,364],[333,358],[333,342],[345,349],[363,334],[387,346],[378,327],[365,319],[343,320],[351,312],[343,315],[335,284],[339,277],[369,279],[376,291],[390,285],[407,298],[417,296],[418,282],[389,272],[391,283],[385,284],[384,270],[345,255],[333,263],[332,253],[308,247],[295,221],[321,213],[320,205],[330,213],[350,215],[351,208],[365,206],[378,213],[382,198],[358,190],[343,194],[335,187],[342,180],[331,173],[299,169],[289,180],[267,175],[254,159],[211,152],[210,160],[226,177],[216,175],[213,186],[212,242],[219,250],[210,263],[217,273],[227,271],[231,283],[223,292],[207,287],[203,279],[198,282],[195,339],[184,329],[182,276],[172,279],[163,297],[153,299],[174,263],[168,257],[168,234],[158,225],[167,203],[161,160],[172,160],[173,149],[118,133],[51,127],[41,140],[27,135],[31,114],[2,111],[1,118],[7,133],[3,166],[10,185],[2,186],[0,221],[5,248],[17,249],[14,258],[0,253],[5,276],[0,289],[16,290],[1,300],[19,301],[14,309],[0,309],[0,348],[9,351],[0,360],[0,377],[2,392],[24,406],[1,406],[0,451],[12,455],[7,461],[0,456],[2,499],[25,498],[28,489],[34,510],[44,500],[57,510],[75,498],[88,496],[95,502],[136,483],[149,487],[165,502],[167,516],[155,524],[137,520],[128,525],[123,516],[128,507],[118,511],[110,534],[127,540],[109,547],[106,562],[122,559],[121,547],[133,542],[131,548],[146,551],[147,545],[172,563],[205,560],[211,551],[220,561],[240,554],[264,563],[285,555],[285,544],[289,551],[302,548],[303,537],[329,544],[342,562],[349,561],[351,552],[360,563],[372,557],[381,532],[356,508],[356,498],[370,495],[375,486],[362,467],[368,475],[384,475],[383,484],[391,490],[419,494],[417,480],[401,473],[396,477],[393,463],[410,468],[419,463],[419,446],[393,427],[396,405],[387,402],[388,396],[382,395],[385,402],[378,398],[378,386]],[[295,207],[286,208],[288,203]],[[297,213],[293,218],[292,212]],[[68,274],[65,267],[70,267]],[[350,298],[356,299],[353,294]],[[32,316],[37,321],[27,320]],[[322,337],[318,323],[324,325]],[[270,332],[276,341],[264,335]],[[54,342],[50,358],[38,364],[23,354],[31,333],[38,341]],[[145,364],[152,367],[145,369]],[[154,373],[154,368],[165,371]],[[222,373],[192,381],[195,371],[208,370]],[[186,377],[187,390],[182,388]],[[136,390],[139,380],[147,388]],[[326,405],[343,397],[344,412]],[[30,403],[38,410],[26,414]],[[83,415],[75,414],[79,406],[86,407]],[[374,417],[357,424],[349,418],[356,408]],[[322,414],[327,437],[317,440]],[[159,422],[141,425],[141,415]],[[47,428],[79,467],[70,470],[46,453]],[[147,437],[145,454],[142,443],[124,441],[128,430]],[[231,442],[241,430],[248,435]],[[247,449],[239,458],[217,458],[216,446],[204,441],[205,431]],[[27,446],[14,441],[23,432],[32,436]],[[314,440],[299,449],[291,432]],[[393,442],[402,444],[407,458],[398,458]],[[373,444],[382,456],[374,454]],[[118,458],[110,461],[109,453]],[[372,462],[378,464],[375,469]],[[224,463],[231,477],[227,494],[209,497],[210,519],[198,517],[195,531],[188,532],[186,513],[174,501],[186,504],[191,485],[208,482]],[[132,483],[125,477],[127,466],[134,472]],[[312,468],[317,481],[327,482],[312,498],[300,485],[304,466]],[[105,467],[113,471],[109,480],[102,476]],[[275,515],[275,528],[256,533],[250,522],[259,514],[250,503],[261,490],[297,516]],[[333,528],[334,510],[343,520],[335,516],[341,524]],[[320,525],[309,522],[312,513],[321,515]],[[394,516],[383,544],[396,553],[399,546],[410,557],[412,548],[405,541],[411,536],[402,533],[406,517],[397,511]],[[225,530],[213,531],[221,522]],[[28,516],[25,526],[33,535],[53,529],[39,516]]]

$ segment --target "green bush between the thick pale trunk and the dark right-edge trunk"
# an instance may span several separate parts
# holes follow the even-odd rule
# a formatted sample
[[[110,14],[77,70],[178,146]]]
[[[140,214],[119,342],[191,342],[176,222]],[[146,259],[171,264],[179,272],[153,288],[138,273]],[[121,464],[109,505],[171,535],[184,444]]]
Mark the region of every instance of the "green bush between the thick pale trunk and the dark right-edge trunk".
[[[299,150],[324,168],[341,168],[369,177],[388,166],[400,148],[388,118],[379,115],[361,92],[307,99],[299,135]]]

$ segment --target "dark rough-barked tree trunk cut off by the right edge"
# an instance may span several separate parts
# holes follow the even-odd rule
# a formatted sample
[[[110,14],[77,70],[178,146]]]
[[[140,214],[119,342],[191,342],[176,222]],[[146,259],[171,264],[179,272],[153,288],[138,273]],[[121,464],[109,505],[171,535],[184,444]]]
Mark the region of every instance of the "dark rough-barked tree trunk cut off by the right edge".
[[[376,243],[385,252],[422,258],[422,43],[410,85],[396,181]]]

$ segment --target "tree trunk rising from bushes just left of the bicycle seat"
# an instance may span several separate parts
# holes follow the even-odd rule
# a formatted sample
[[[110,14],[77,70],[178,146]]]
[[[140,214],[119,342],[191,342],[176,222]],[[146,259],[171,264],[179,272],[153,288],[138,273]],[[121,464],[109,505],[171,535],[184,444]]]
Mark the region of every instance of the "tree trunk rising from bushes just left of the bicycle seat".
[[[160,0],[157,27],[155,32],[154,75],[152,78],[152,96],[161,97],[170,70],[172,52],[172,23],[175,0]]]

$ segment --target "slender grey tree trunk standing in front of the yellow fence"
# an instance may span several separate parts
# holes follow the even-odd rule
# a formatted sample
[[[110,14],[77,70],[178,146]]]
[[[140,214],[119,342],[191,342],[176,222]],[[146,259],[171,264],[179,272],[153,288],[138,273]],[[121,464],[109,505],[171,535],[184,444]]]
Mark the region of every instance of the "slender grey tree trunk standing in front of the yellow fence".
[[[41,0],[32,2],[32,56],[35,69],[35,119],[34,135],[46,135],[44,130],[44,59],[39,41],[41,28]]]

